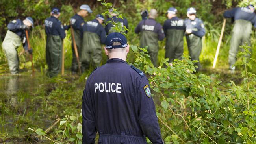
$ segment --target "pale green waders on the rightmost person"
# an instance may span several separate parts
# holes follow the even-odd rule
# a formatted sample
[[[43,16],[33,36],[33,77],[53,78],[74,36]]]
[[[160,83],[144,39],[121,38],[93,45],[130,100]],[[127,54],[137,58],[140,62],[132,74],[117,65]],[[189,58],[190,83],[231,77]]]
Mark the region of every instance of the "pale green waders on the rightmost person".
[[[252,23],[247,20],[236,20],[232,30],[232,37],[230,40],[230,49],[228,55],[229,65],[234,65],[236,62],[236,54],[241,44],[251,46],[250,36],[252,34]],[[251,51],[251,49],[250,49]],[[247,55],[250,57],[250,54]]]

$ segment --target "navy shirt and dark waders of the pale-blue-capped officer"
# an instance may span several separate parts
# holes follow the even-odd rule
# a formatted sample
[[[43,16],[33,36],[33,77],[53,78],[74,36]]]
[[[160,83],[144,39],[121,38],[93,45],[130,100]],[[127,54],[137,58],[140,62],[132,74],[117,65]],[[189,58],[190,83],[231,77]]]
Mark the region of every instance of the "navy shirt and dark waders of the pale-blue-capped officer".
[[[83,27],[85,26],[86,22],[83,20],[83,17],[75,14],[71,19],[70,19],[70,23],[72,25],[72,28],[74,30],[74,38],[76,41],[76,48],[78,51],[78,55],[79,55],[79,61],[81,63],[81,58],[82,58],[82,41],[83,41]],[[78,63],[76,60],[76,54],[74,51],[74,44],[72,41],[72,72],[77,72],[78,70]],[[81,69],[84,69],[84,64],[82,63],[81,65]]]

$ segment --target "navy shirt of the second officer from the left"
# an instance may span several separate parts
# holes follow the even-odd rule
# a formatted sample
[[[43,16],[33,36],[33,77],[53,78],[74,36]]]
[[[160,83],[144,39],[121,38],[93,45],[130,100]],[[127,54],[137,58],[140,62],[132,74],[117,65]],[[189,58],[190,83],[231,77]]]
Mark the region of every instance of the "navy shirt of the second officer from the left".
[[[45,20],[46,35],[59,35],[61,39],[66,36],[65,30],[58,18],[51,16]]]

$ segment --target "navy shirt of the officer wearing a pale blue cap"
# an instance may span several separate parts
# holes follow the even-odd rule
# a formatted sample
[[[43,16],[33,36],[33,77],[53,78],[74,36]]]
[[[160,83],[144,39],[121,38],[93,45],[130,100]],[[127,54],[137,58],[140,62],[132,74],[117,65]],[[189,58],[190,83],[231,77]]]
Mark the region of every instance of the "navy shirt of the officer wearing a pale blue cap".
[[[74,15],[71,19],[71,25],[75,30],[80,31],[80,37],[83,37],[83,26],[85,26],[86,22],[83,20],[83,17],[78,15]]]

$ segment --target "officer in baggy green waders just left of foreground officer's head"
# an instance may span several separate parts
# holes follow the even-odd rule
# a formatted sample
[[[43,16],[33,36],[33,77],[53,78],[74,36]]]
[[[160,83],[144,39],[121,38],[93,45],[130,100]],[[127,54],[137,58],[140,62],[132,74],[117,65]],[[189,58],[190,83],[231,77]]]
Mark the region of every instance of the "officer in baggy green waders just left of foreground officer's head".
[[[104,20],[104,16],[98,14],[83,27],[82,63],[85,63],[85,69],[89,68],[91,62],[93,67],[100,66],[101,44],[106,41],[106,31],[102,26]]]

